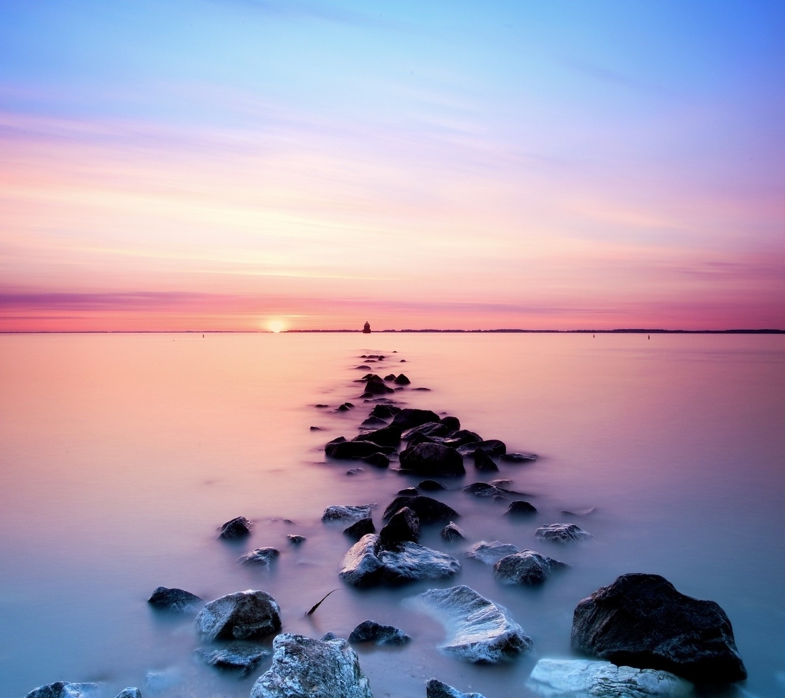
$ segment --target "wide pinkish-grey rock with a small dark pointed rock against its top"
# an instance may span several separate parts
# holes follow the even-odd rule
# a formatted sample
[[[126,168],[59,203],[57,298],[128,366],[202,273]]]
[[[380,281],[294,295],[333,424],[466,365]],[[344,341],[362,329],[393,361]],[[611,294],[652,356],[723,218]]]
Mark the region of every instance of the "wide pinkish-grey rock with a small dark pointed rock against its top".
[[[363,535],[345,555],[338,576],[355,587],[402,584],[421,579],[444,579],[461,571],[461,564],[445,553],[418,543],[382,545],[378,535]]]

